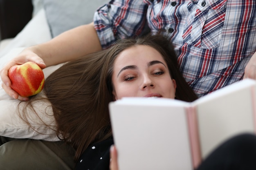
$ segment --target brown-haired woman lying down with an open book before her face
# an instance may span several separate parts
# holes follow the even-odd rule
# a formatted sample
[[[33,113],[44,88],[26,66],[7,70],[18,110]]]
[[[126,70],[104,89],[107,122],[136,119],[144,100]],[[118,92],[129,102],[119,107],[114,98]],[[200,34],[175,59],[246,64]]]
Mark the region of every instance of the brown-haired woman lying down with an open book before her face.
[[[128,58],[129,56],[124,56],[121,59],[122,55],[130,52],[132,52],[130,58]],[[141,71],[141,69],[138,69],[141,68],[139,66],[140,60],[148,58],[148,56],[157,56],[157,58],[152,58],[152,61],[148,62],[149,65],[146,65],[148,71],[151,69],[150,72]],[[125,69],[122,69],[121,73],[119,73],[120,71],[117,73],[115,66],[120,66],[120,63],[127,64],[128,60],[123,61],[125,58],[131,61],[136,59],[137,63],[131,64]],[[132,73],[129,73],[128,77],[126,76],[125,78],[124,73],[127,71],[132,71]],[[155,88],[156,86],[161,91],[154,93],[149,91],[150,93],[147,92],[148,94],[139,94],[137,91],[136,94],[132,94],[131,92],[136,89],[134,82],[138,82],[138,79],[141,80],[138,76],[139,74],[136,75],[135,72],[140,73],[140,75],[151,76],[151,78],[154,78],[154,84],[160,84],[160,81],[157,83],[157,79],[161,78],[161,88],[158,88],[156,84],[150,85],[151,88]],[[114,77],[118,77],[118,79]],[[120,79],[120,77],[122,78]],[[124,86],[124,83],[120,83],[120,80],[124,79],[128,82],[128,86],[127,84]],[[149,80],[145,79],[145,81],[147,82]],[[166,83],[168,86],[165,86]],[[141,91],[143,89],[145,91],[145,88],[142,87]],[[127,89],[130,89],[128,93],[121,93]],[[162,91],[162,89],[165,90]],[[100,166],[99,162],[97,162],[98,159],[95,159],[96,162],[92,161],[92,158],[94,158],[93,153],[88,151],[91,148],[88,146],[92,144],[100,144],[102,150],[106,151],[106,156],[109,158],[109,148],[113,143],[108,113],[109,102],[130,95],[175,97],[176,99],[187,102],[197,99],[197,96],[186,84],[179,71],[172,44],[160,35],[146,36],[136,40],[119,40],[106,51],[92,53],[69,62],[47,77],[44,92],[47,98],[32,98],[28,106],[33,109],[32,103],[35,100],[45,99],[51,102],[56,118],[56,133],[58,137],[75,149],[74,159],[76,162],[85,163],[86,161],[81,161],[79,157],[81,157],[82,153],[85,158],[88,155],[91,164],[84,166],[94,166],[94,164]],[[24,117],[26,118],[28,116],[24,111]],[[6,144],[7,146],[8,143]],[[45,154],[45,157],[51,157],[51,155]],[[42,157],[44,156],[42,155]],[[51,161],[55,160],[51,159]],[[108,168],[109,159],[105,157],[103,160],[107,160],[107,164],[102,165]],[[77,168],[80,166],[79,163],[77,164]]]

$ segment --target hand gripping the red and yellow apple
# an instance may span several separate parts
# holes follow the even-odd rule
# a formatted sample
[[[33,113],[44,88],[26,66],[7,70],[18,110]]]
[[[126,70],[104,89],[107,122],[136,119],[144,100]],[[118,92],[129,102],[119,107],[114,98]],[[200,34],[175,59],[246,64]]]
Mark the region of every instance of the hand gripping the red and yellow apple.
[[[36,53],[32,52],[31,50],[25,49],[17,57],[13,58],[13,60],[11,60],[9,63],[7,63],[0,71],[0,76],[2,79],[2,88],[9,96],[13,97],[14,99],[27,101],[29,98],[21,97],[20,95],[18,95],[18,93],[16,91],[14,91],[11,88],[11,80],[8,77],[8,71],[12,66],[21,65],[21,64],[24,64],[25,62],[29,62],[29,61],[35,62],[42,69],[46,67],[43,59],[41,59]]]

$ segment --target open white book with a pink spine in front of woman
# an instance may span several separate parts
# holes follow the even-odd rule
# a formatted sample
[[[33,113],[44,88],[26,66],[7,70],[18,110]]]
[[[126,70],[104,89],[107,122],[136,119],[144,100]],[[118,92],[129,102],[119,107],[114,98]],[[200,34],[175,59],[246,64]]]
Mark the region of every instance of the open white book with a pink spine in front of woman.
[[[126,97],[109,109],[119,170],[193,170],[228,138],[255,133],[256,81],[194,102]]]

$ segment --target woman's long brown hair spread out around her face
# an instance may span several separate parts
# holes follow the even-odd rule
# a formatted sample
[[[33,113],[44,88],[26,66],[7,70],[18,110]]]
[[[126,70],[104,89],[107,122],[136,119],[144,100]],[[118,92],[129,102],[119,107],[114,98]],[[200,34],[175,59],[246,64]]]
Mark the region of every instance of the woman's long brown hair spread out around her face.
[[[52,105],[56,133],[76,149],[75,160],[93,142],[111,137],[108,104],[114,98],[111,80],[115,58],[135,45],[152,46],[162,54],[176,81],[177,99],[197,99],[179,71],[172,44],[161,35],[118,40],[110,49],[68,62],[47,77],[44,92]]]

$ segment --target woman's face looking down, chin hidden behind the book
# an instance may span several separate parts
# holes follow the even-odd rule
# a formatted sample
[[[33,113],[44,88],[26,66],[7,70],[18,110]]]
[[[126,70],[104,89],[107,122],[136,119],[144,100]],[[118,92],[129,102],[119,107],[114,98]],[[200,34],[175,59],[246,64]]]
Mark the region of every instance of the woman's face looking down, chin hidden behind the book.
[[[171,79],[162,55],[146,45],[132,46],[116,58],[112,75],[113,95],[122,97],[175,97],[176,82]]]

